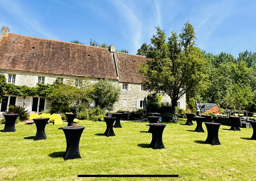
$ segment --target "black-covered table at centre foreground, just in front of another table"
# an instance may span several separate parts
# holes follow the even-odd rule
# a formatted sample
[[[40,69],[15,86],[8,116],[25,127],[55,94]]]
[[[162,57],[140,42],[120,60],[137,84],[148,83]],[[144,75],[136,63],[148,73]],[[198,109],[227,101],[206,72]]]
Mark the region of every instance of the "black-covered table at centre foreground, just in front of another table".
[[[165,148],[163,145],[162,134],[166,124],[149,123],[149,126],[152,130],[152,141],[149,144],[149,147],[153,148],[154,150]]]

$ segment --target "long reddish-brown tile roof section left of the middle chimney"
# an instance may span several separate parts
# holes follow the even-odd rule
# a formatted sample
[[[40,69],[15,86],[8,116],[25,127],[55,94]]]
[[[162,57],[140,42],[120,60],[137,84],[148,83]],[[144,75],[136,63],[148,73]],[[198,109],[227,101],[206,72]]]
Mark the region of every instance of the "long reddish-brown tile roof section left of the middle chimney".
[[[0,69],[117,79],[107,48],[13,33],[1,39]]]

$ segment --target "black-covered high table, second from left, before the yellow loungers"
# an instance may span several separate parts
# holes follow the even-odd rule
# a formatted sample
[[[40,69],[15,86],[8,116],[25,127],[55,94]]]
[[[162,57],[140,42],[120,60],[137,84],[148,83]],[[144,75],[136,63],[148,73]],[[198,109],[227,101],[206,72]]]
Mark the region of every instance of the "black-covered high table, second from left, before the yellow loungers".
[[[36,125],[36,134],[35,140],[46,140],[47,136],[45,135],[45,125],[49,121],[50,118],[34,118],[33,121]]]

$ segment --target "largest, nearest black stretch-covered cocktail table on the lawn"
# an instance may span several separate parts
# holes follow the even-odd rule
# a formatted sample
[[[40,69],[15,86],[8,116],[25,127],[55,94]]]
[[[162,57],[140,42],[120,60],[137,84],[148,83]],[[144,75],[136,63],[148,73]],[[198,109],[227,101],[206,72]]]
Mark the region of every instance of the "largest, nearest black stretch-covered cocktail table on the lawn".
[[[64,160],[81,158],[79,152],[79,141],[84,130],[84,126],[72,128],[70,126],[62,127],[67,141],[67,149],[63,155]]]

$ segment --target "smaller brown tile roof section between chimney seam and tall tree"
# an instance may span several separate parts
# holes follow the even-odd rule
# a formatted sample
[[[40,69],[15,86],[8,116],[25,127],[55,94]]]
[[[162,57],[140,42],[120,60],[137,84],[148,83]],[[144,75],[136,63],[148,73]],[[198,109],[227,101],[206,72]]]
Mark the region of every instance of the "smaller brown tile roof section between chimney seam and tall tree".
[[[144,76],[139,73],[138,65],[149,60],[144,56],[126,53],[115,53],[120,82],[141,83]]]

